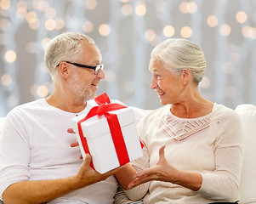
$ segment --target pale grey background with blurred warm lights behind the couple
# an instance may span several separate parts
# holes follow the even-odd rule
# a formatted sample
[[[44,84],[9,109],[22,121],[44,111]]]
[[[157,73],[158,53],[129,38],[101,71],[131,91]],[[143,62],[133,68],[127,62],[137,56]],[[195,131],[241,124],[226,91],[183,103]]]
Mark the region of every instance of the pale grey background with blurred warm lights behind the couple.
[[[150,89],[151,49],[184,37],[205,52],[203,96],[230,108],[256,105],[255,0],[0,0],[0,18],[0,116],[52,92],[44,48],[65,31],[99,46],[106,78],[98,94],[160,107]]]

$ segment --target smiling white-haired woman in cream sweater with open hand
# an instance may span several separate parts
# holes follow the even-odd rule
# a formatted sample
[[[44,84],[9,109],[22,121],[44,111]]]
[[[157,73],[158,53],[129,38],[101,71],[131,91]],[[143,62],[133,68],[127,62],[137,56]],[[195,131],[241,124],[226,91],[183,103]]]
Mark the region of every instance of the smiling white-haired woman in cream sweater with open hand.
[[[134,161],[140,172],[128,187],[143,185],[126,194],[139,199],[147,192],[144,203],[154,204],[236,203],[242,125],[235,111],[200,94],[206,71],[202,48],[168,39],[151,52],[150,71],[151,89],[164,106],[138,124],[145,156]]]

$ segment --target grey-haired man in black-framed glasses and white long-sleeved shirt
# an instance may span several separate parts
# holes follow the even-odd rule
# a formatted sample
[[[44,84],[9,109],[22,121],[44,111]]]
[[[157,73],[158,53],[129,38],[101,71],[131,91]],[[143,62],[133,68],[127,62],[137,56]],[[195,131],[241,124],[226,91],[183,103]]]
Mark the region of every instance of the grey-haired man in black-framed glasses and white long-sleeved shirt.
[[[75,137],[66,131],[72,117],[94,106],[90,99],[105,78],[100,50],[90,37],[66,32],[49,42],[44,59],[54,82],[53,94],[19,105],[6,117],[0,140],[1,199],[111,203],[117,190],[111,175],[117,169],[100,174],[90,167],[90,156],[79,160],[79,148],[70,146]]]

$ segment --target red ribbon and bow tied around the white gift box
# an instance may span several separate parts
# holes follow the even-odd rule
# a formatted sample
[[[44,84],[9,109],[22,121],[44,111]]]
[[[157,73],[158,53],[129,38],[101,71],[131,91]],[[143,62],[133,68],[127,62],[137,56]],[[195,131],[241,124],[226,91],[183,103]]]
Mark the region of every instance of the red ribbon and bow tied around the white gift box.
[[[127,108],[127,106],[120,105],[120,104],[111,104],[111,100],[109,99],[107,94],[101,94],[100,96],[96,97],[94,100],[100,106],[94,106],[94,108],[92,108],[88,112],[88,115],[85,116],[85,118],[83,118],[81,121],[77,123],[78,133],[82,142],[83,150],[85,151],[86,154],[90,153],[88,149],[87,140],[85,137],[83,137],[81,123],[88,120],[88,118],[92,116],[104,115],[110,127],[111,137],[117,152],[117,158],[118,158],[119,164],[120,166],[122,166],[123,164],[126,164],[128,163],[128,161],[130,161],[128,156],[128,151],[126,149],[126,145],[122,136],[122,130],[120,127],[120,123],[117,119],[117,115],[109,113],[108,111],[116,111],[119,109]],[[93,161],[91,162],[91,167],[94,168]]]

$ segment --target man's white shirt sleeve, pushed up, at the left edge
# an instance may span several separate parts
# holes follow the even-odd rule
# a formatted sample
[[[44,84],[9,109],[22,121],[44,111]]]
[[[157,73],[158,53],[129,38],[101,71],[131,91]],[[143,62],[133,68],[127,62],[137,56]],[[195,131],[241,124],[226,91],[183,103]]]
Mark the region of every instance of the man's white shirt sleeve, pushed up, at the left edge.
[[[25,123],[24,123],[25,122]],[[30,147],[25,118],[11,111],[0,137],[0,199],[9,185],[29,178]]]

